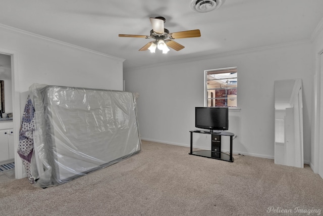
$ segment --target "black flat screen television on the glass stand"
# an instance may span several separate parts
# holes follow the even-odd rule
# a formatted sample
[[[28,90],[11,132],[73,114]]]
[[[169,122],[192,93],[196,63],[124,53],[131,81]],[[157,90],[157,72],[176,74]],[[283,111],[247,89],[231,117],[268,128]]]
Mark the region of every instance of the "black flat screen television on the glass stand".
[[[217,133],[213,130],[227,131],[229,127],[228,107],[195,107],[195,127],[209,129],[210,133]]]

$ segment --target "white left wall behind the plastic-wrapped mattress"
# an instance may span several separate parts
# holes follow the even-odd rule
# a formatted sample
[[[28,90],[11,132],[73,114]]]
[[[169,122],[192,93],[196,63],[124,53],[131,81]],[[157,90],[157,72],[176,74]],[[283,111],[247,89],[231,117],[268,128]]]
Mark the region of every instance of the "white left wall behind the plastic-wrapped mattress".
[[[0,53],[14,54],[12,80],[16,149],[22,112],[31,84],[123,90],[124,59],[3,25],[0,25]],[[16,178],[22,178],[19,171],[21,169],[22,172],[23,168],[17,154],[16,159]]]

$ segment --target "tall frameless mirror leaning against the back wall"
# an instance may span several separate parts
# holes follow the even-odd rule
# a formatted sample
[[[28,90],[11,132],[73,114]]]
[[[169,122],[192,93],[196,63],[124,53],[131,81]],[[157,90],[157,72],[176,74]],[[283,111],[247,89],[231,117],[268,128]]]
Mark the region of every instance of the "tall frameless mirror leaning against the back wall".
[[[302,79],[275,81],[275,163],[304,167]]]

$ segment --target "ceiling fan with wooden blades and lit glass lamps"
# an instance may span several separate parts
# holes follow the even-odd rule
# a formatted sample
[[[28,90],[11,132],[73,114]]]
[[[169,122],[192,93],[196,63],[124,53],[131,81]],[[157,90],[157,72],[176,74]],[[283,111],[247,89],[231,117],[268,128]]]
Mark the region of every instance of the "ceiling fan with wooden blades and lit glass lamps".
[[[139,51],[149,50],[154,53],[156,48],[163,51],[163,53],[168,53],[170,48],[180,51],[184,46],[178,44],[173,39],[188,38],[188,37],[200,37],[201,33],[199,29],[179,31],[170,33],[168,29],[164,28],[164,23],[166,19],[164,17],[150,18],[150,23],[152,25],[152,30],[150,35],[136,35],[136,34],[119,34],[119,37],[143,37],[147,39],[154,39],[143,46]]]

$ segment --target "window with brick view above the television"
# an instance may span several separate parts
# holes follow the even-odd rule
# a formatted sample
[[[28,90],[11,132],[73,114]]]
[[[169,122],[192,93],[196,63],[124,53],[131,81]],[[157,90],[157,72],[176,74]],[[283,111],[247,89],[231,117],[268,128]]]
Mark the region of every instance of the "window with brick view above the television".
[[[205,106],[237,107],[237,68],[221,68],[204,72]]]

